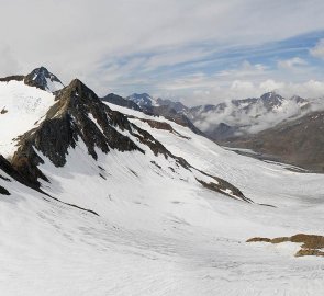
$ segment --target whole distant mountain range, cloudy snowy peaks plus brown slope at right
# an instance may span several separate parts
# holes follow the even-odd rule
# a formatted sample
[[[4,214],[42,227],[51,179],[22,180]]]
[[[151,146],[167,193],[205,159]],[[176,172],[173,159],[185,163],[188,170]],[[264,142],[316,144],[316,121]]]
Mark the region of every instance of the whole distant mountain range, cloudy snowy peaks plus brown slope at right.
[[[321,118],[317,111],[324,110],[324,103],[320,99],[283,98],[267,92],[260,98],[188,107],[181,102],[134,93],[110,102],[122,106],[129,104],[131,109],[137,105],[147,114],[188,126],[221,145],[252,148],[265,158],[323,171],[324,155],[319,149],[323,147],[321,130],[324,124],[321,119],[311,119]],[[299,140],[303,141],[302,146]]]

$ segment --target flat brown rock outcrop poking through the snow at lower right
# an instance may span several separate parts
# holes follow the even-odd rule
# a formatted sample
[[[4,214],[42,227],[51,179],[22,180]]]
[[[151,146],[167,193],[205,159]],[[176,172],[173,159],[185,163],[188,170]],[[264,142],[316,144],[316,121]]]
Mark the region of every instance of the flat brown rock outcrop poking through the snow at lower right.
[[[299,234],[292,237],[278,237],[273,239],[255,237],[248,239],[246,242],[269,242],[269,243],[282,243],[282,242],[295,242],[302,243],[301,249],[294,254],[294,257],[303,255],[319,255],[324,257],[324,251],[319,249],[324,248],[324,237],[317,235],[304,235]]]

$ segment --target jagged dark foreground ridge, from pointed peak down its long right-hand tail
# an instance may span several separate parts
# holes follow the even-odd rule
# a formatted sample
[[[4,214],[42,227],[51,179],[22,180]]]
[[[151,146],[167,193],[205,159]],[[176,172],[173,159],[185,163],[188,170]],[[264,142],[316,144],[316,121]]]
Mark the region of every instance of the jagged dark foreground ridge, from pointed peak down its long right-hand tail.
[[[164,170],[158,164],[159,161],[155,160],[163,157],[169,166],[168,174],[181,179],[181,173],[186,172],[190,175],[190,182],[231,197],[249,201],[228,182],[209,175],[190,166],[185,159],[170,153],[147,132],[102,103],[97,94],[78,79],[55,92],[55,103],[43,121],[19,137],[18,150],[11,164],[24,178],[25,184],[32,184],[32,187],[42,191],[42,186],[51,184],[51,175],[43,172],[42,166],[51,161],[56,168],[63,168],[68,163],[69,155],[81,146],[85,146],[87,153],[94,161],[98,160],[99,153],[103,157],[111,150],[137,151],[139,155],[149,152],[152,156],[146,160],[149,166],[154,163],[159,170]]]

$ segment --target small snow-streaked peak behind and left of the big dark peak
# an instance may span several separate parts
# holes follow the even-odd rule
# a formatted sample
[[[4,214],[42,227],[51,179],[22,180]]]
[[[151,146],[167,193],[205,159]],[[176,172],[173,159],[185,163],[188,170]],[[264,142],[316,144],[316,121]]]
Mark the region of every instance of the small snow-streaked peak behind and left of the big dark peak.
[[[64,88],[62,81],[45,67],[34,69],[31,73],[25,76],[24,82],[27,86],[36,87],[49,92],[55,92]]]

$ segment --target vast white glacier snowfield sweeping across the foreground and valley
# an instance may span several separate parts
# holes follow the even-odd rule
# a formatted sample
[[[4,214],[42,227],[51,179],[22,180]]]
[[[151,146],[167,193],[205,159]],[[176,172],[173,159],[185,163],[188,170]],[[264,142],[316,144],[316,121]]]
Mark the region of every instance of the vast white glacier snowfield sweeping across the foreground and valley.
[[[256,204],[208,191],[185,170],[175,178],[163,157],[163,171],[149,152],[97,151],[94,161],[79,143],[64,168],[41,167],[43,190],[100,217],[0,179],[12,193],[0,195],[1,295],[323,295],[323,259],[245,240],[323,235],[324,175],[238,156],[170,122],[190,139],[132,122]]]

